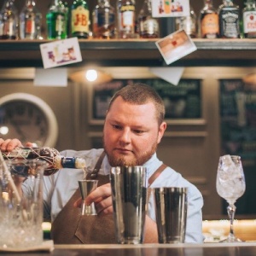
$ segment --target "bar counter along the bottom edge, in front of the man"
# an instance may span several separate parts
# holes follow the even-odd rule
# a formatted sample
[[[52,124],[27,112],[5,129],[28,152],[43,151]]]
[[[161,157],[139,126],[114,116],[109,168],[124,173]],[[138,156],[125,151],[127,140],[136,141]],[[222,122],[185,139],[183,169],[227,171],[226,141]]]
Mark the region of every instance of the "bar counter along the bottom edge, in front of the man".
[[[1,254],[1,253],[0,253]],[[51,252],[4,253],[12,256],[255,256],[256,242],[143,245],[55,245]]]

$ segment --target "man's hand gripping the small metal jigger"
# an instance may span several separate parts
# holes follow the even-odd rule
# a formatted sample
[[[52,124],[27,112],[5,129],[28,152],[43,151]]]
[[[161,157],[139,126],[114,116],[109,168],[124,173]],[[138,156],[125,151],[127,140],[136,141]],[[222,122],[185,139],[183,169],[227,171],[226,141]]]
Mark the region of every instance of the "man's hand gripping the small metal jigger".
[[[110,214],[113,212],[110,183],[106,183],[100,187],[97,187],[90,193],[90,195],[86,197],[86,205],[90,206],[92,202],[95,203],[98,215]],[[74,202],[74,207],[81,207],[81,204],[82,198],[79,198],[78,201]]]

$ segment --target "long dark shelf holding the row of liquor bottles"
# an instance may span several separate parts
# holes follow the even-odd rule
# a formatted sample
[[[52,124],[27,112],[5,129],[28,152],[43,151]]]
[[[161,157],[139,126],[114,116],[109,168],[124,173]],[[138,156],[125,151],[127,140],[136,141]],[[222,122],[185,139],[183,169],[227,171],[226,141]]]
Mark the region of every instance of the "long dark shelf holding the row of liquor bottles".
[[[156,39],[80,39],[83,61],[72,67],[164,67]],[[193,39],[197,50],[175,61],[172,67],[256,66],[256,39]],[[43,67],[39,45],[49,40],[0,41],[0,67]]]

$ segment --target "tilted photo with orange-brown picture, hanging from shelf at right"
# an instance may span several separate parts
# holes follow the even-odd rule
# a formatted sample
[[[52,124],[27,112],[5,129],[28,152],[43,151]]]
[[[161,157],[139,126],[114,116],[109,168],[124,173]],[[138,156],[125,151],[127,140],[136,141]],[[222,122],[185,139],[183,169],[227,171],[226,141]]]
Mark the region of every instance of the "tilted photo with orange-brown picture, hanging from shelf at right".
[[[194,42],[184,30],[173,32],[155,44],[167,65],[196,50]]]

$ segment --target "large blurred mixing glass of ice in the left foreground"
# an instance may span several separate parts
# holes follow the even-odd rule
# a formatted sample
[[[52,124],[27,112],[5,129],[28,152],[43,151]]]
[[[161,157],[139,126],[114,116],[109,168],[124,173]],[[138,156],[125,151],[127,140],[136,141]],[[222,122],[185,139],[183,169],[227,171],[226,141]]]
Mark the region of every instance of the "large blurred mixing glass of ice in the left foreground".
[[[45,167],[41,160],[1,159],[0,248],[17,250],[42,245]],[[29,191],[24,189],[27,183]]]

